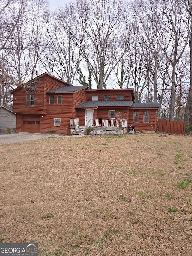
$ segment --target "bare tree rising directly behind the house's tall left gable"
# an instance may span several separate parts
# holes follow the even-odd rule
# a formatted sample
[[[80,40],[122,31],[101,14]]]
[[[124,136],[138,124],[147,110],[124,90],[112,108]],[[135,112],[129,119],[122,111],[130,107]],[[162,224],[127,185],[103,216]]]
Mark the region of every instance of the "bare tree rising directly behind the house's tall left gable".
[[[47,22],[50,44],[44,64],[46,69],[52,67],[53,75],[68,83],[73,83],[81,58],[80,50],[71,35],[73,26],[74,21],[65,8],[49,16]],[[47,63],[48,59],[51,63]]]

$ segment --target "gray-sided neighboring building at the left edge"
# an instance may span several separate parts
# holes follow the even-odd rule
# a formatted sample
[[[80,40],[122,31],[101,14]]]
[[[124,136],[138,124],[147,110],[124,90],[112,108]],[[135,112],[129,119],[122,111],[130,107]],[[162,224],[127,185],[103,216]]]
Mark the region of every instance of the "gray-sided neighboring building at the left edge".
[[[16,125],[16,115],[4,106],[0,106],[0,133],[7,133],[7,128],[11,128],[10,132]]]

